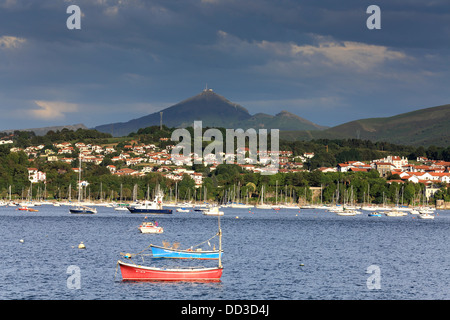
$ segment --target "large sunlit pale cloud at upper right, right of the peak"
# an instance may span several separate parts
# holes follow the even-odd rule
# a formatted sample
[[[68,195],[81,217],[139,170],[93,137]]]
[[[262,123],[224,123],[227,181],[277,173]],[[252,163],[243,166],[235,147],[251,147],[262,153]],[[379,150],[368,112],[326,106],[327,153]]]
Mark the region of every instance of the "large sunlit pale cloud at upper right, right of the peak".
[[[405,53],[386,46],[355,41],[337,41],[331,37],[313,35],[313,44],[278,41],[247,41],[225,31],[217,32],[216,49],[233,54],[265,57],[256,68],[268,68],[278,73],[315,70],[330,72],[345,69],[368,72],[389,61],[411,59]],[[325,70],[327,69],[327,70]],[[290,70],[290,71],[289,71]]]

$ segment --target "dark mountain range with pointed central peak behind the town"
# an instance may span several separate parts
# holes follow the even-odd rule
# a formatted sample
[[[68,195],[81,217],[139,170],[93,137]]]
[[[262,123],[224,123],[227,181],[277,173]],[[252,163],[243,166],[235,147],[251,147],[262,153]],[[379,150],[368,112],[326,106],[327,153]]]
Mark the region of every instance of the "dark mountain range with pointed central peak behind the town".
[[[126,136],[130,132],[137,132],[140,128],[159,125],[160,112],[163,113],[163,124],[167,127],[190,127],[194,121],[201,120],[203,127],[280,129],[280,138],[291,141],[362,139],[412,146],[450,145],[448,130],[450,104],[422,108],[390,117],[358,119],[329,128],[286,110],[281,110],[275,115],[262,112],[251,115],[243,106],[229,101],[211,89],[203,90],[161,111],[126,122],[96,126],[93,129],[114,136]],[[83,124],[77,124],[20,129],[20,131],[34,131],[36,135],[44,135],[50,130],[63,128],[87,129]],[[14,130],[2,132],[12,131]]]

